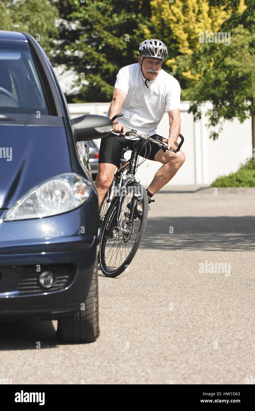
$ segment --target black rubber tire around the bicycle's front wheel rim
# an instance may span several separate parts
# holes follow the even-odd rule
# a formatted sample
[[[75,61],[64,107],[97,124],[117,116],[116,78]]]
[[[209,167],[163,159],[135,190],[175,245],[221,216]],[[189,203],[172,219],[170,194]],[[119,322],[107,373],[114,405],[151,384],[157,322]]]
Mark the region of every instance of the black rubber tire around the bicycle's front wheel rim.
[[[111,231],[111,229],[113,228],[113,223],[115,221],[115,213],[117,210],[117,203],[119,201],[119,197],[115,197],[113,199],[113,202],[111,203],[106,216],[103,220],[103,225],[102,225],[102,234],[101,234],[101,241],[100,241],[100,245],[99,245],[99,263],[100,263],[100,268],[101,271],[103,272],[103,274],[106,277],[117,277],[119,274],[121,274],[127,266],[129,266],[129,264],[131,263],[131,261],[133,260],[134,256],[136,255],[136,252],[138,250],[138,247],[140,245],[140,242],[142,240],[142,236],[144,234],[145,231],[145,227],[146,227],[146,223],[147,223],[147,217],[148,217],[148,196],[147,196],[147,192],[145,190],[145,188],[140,185],[139,183],[136,182],[131,182],[127,185],[127,187],[136,187],[136,190],[138,190],[138,192],[142,195],[140,195],[140,199],[142,199],[142,217],[141,219],[136,218],[136,222],[138,222],[138,220],[140,221],[140,225],[138,228],[138,232],[135,233],[135,236],[133,237],[134,242],[131,241],[130,246],[132,244],[131,250],[129,251],[129,254],[127,256],[125,256],[125,260],[122,262],[122,256],[121,256],[121,264],[119,265],[119,267],[114,268],[114,269],[110,269],[109,266],[107,266],[108,263],[106,263],[106,256],[105,256],[105,250],[106,250],[106,241],[110,240],[109,237],[107,237],[108,233]],[[135,190],[133,190],[135,191]],[[124,198],[126,199],[127,196],[129,194],[125,195]],[[126,200],[128,201],[128,200]],[[128,220],[130,222],[130,220]],[[134,224],[133,224],[134,226]],[[138,224],[136,225],[136,227],[138,227]],[[135,232],[135,229],[133,228],[133,233]],[[129,240],[124,241],[124,234],[122,233],[118,233],[119,237],[118,240],[121,238],[121,236],[123,236],[122,240],[123,240],[123,248],[124,248],[124,243],[127,244],[127,242],[129,242]],[[133,234],[132,234],[133,235]],[[132,238],[132,235],[130,236],[130,240]],[[125,238],[126,239],[126,238]],[[113,239],[114,240],[114,239]],[[115,245],[115,242],[113,243],[113,246]],[[116,249],[118,248],[119,244],[117,244]],[[122,252],[123,252],[123,248],[122,248]],[[127,247],[128,248],[128,247]],[[129,250],[129,248],[128,248]],[[125,249],[125,253],[126,253],[126,249]],[[116,257],[117,259],[117,257]]]

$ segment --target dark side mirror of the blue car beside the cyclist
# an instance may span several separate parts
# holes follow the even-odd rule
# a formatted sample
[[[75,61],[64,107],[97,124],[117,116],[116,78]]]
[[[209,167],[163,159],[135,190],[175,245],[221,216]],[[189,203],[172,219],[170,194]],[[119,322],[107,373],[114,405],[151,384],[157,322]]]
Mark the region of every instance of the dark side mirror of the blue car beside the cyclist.
[[[113,122],[103,115],[85,114],[73,118],[74,134],[77,141],[107,137],[113,130]]]

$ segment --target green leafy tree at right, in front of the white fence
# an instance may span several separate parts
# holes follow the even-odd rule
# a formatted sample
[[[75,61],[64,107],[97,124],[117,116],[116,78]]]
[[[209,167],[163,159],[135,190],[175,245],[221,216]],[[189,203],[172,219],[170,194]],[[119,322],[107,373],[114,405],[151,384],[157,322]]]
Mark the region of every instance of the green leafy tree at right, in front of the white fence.
[[[191,100],[190,111],[200,118],[199,105],[211,101],[209,125],[216,126],[222,119],[237,117],[240,122],[251,116],[253,147],[255,147],[255,9],[254,0],[245,1],[243,12],[235,10],[225,21],[221,31],[230,37],[230,44],[201,43],[186,61],[179,58],[177,70],[187,65],[198,81],[185,91]],[[188,60],[188,61],[187,61]],[[218,133],[212,132],[215,139]]]

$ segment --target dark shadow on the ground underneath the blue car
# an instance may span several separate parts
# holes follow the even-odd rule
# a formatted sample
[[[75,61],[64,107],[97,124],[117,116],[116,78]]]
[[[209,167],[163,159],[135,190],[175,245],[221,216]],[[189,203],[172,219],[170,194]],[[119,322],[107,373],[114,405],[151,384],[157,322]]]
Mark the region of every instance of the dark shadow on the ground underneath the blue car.
[[[0,351],[57,348],[52,321],[0,322]],[[61,344],[61,343],[60,343]]]

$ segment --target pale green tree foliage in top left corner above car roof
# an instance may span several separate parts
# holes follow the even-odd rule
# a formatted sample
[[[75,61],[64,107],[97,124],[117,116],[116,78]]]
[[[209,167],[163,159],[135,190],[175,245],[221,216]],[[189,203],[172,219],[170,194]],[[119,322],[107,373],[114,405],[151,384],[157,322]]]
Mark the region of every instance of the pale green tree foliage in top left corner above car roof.
[[[51,39],[58,36],[55,2],[48,0],[0,0],[1,30],[25,31],[50,54]]]

